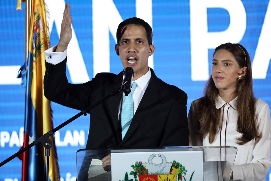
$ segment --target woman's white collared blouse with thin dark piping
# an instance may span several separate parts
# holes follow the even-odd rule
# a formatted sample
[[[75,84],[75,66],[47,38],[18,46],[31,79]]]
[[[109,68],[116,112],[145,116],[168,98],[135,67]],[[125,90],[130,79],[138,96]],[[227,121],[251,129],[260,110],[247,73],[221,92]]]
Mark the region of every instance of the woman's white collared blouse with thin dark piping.
[[[253,139],[244,145],[236,143],[237,137],[242,133],[237,132],[237,97],[225,102],[220,96],[216,103],[216,108],[221,109],[223,118],[222,129],[215,137],[215,141],[209,143],[209,135],[203,140],[203,146],[235,146],[237,155],[233,166],[233,179],[242,179],[245,181],[265,180],[265,176],[270,168],[271,143],[270,143],[270,109],[267,103],[256,99],[255,114],[258,115],[258,131],[262,134],[260,139]]]

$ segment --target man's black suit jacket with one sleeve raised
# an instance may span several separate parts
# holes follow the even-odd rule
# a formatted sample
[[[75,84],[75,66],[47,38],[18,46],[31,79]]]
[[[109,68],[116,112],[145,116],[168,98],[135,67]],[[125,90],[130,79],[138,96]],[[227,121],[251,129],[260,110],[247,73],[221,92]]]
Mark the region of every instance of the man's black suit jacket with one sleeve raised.
[[[70,84],[66,78],[66,59],[46,63],[44,95],[64,106],[84,110],[121,86],[123,72],[98,73],[91,81]],[[87,149],[156,148],[188,146],[187,94],[166,84],[151,69],[151,80],[140,101],[131,125],[121,140],[118,107],[122,92],[90,110]]]

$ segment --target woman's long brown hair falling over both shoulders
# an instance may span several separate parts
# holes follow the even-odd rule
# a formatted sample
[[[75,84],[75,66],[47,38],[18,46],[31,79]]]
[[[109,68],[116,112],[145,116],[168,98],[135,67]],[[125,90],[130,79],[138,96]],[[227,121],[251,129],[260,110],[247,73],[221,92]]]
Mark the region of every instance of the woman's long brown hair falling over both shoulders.
[[[219,45],[213,54],[224,49],[233,54],[240,68],[247,67],[244,80],[238,81],[237,93],[237,131],[242,133],[241,137],[236,138],[239,145],[246,144],[254,138],[260,138],[261,133],[257,129],[257,115],[255,115],[255,98],[252,87],[251,60],[246,49],[240,44],[226,43]],[[204,97],[195,105],[196,115],[200,120],[200,135],[204,139],[209,134],[209,142],[215,140],[216,134],[221,129],[223,123],[221,119],[221,109],[216,109],[215,102],[219,95],[219,89],[210,76],[206,82]]]

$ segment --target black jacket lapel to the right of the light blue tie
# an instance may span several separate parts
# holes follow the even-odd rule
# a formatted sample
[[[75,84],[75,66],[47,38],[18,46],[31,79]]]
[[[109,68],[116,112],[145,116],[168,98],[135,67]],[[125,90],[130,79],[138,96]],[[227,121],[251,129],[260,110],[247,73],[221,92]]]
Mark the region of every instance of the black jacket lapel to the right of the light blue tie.
[[[147,86],[147,89],[138,105],[138,109],[133,117],[131,125],[121,144],[126,142],[126,140],[129,140],[129,137],[133,135],[134,130],[138,128],[139,124],[150,112],[151,108],[156,104],[157,100],[159,100],[159,90],[161,90],[160,80],[156,77],[153,70],[151,69],[151,81]]]

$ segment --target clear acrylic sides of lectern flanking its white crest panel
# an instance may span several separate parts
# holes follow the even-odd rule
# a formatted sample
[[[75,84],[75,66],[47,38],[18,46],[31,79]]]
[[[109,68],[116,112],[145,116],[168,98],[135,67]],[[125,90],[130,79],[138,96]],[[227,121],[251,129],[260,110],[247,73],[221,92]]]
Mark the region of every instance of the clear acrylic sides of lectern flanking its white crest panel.
[[[164,147],[162,149],[178,149],[179,151],[202,151],[203,180],[225,181],[231,180],[230,174],[233,169],[237,148],[234,146],[182,146]],[[114,150],[115,151],[115,150]],[[129,150],[133,152],[135,150]],[[144,150],[143,150],[144,151]],[[138,152],[138,150],[136,150]],[[102,168],[102,158],[111,154],[111,150],[86,150],[76,152],[77,181],[111,181],[111,171]],[[127,161],[127,160],[124,160]],[[191,162],[190,164],[193,164]],[[113,170],[113,169],[112,169]],[[129,175],[129,173],[128,173]],[[178,180],[180,174],[176,174],[173,180]],[[131,176],[129,176],[131,177]],[[138,177],[138,181],[141,181]],[[180,177],[179,177],[180,178]],[[131,178],[129,178],[130,180]],[[123,178],[118,179],[124,180]],[[135,179],[133,179],[135,180]],[[155,180],[155,179],[154,179]],[[159,180],[159,179],[157,179]],[[186,179],[187,180],[187,179]],[[189,179],[188,179],[189,180]],[[193,181],[193,179],[191,179]]]

